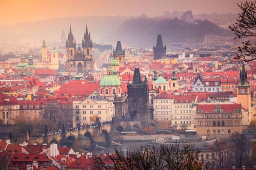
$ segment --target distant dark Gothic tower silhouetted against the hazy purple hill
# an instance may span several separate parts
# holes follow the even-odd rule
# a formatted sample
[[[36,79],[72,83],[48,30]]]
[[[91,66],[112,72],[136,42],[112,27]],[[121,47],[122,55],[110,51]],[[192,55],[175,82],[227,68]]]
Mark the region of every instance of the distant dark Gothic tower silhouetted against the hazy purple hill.
[[[154,50],[154,59],[158,60],[161,59],[163,56],[166,55],[166,45],[163,46],[163,40],[161,34],[158,34],[158,39],[157,39],[157,45],[156,47],[153,47]]]

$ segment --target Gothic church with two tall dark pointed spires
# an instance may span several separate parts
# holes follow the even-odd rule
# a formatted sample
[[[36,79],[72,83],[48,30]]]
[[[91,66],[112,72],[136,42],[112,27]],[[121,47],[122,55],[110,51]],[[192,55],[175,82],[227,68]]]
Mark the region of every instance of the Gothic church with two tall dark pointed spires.
[[[71,26],[66,41],[67,61],[65,63],[66,71],[85,73],[93,70],[93,41],[86,26],[86,31],[83,35],[82,47],[76,48],[76,40],[71,31]]]

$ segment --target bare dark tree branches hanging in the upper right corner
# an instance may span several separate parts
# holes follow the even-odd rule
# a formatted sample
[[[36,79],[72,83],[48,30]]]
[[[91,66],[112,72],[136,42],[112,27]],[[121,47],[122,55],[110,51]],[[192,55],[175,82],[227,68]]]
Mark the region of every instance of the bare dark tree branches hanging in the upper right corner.
[[[236,38],[256,37],[256,0],[245,1],[238,4],[242,10],[236,23],[229,26]],[[235,39],[236,39],[235,38]],[[256,59],[256,45],[249,40],[242,42],[242,47],[238,47],[237,59],[242,61],[252,61]]]

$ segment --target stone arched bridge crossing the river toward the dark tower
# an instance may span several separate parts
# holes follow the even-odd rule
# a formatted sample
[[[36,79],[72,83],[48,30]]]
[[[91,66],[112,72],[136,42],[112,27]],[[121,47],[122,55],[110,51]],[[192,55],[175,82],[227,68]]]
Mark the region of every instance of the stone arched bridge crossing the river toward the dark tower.
[[[108,123],[90,126],[88,128],[79,128],[78,130],[61,132],[47,135],[46,137],[37,137],[29,139],[28,143],[57,143],[58,146],[67,145],[92,146],[97,143],[106,143],[112,140],[119,140],[120,132],[141,130],[139,121],[120,121],[119,123]]]

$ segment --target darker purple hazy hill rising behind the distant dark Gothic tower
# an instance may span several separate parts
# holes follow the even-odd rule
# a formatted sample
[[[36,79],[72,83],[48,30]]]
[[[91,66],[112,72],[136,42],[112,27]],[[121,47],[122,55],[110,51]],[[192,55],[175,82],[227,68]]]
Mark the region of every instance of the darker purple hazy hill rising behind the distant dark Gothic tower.
[[[135,47],[151,47],[156,45],[157,35],[161,34],[163,44],[170,47],[175,43],[198,43],[203,41],[206,34],[233,36],[230,30],[223,29],[208,20],[195,20],[194,23],[185,22],[178,18],[133,18],[127,19],[120,27],[106,39],[118,37],[121,42]]]

